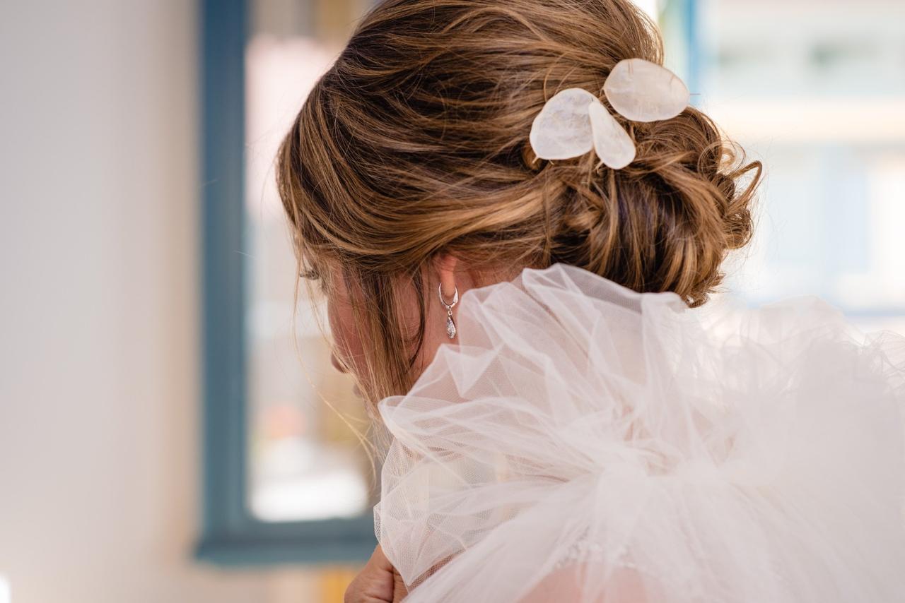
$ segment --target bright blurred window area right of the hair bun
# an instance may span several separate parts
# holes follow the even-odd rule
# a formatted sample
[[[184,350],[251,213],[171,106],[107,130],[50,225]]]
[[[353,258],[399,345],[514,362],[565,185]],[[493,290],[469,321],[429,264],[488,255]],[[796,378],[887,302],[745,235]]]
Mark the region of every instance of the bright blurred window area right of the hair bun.
[[[905,332],[905,5],[710,0],[700,16],[702,108],[767,174],[729,288]]]

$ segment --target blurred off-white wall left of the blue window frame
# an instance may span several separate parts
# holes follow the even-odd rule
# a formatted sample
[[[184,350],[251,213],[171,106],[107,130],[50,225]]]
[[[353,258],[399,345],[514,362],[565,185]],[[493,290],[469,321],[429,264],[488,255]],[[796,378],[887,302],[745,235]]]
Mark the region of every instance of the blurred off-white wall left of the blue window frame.
[[[0,5],[0,576],[13,603],[276,600],[191,561],[195,3]]]

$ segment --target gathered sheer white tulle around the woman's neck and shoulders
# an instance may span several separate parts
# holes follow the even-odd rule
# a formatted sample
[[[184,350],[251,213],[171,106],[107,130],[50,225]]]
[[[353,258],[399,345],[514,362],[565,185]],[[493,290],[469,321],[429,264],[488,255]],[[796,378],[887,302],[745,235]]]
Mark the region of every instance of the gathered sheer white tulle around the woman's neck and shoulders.
[[[462,297],[378,410],[406,601],[905,600],[905,339],[582,269]]]

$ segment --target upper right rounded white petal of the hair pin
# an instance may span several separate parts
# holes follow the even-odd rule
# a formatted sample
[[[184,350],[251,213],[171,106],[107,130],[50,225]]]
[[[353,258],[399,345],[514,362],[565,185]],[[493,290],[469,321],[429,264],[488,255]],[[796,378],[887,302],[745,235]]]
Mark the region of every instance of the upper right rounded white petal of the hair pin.
[[[674,118],[691,97],[684,82],[672,71],[651,61],[619,61],[604,83],[610,105],[632,121]]]

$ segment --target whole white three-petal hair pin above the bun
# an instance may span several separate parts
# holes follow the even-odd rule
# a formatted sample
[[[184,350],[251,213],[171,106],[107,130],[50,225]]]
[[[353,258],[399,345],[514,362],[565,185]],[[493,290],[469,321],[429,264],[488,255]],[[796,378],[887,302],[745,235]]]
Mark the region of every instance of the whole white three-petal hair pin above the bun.
[[[604,82],[610,106],[632,121],[674,118],[688,106],[690,94],[679,77],[651,61],[616,63]],[[531,148],[540,159],[569,159],[592,148],[614,170],[634,160],[632,137],[595,95],[581,88],[557,92],[531,124]]]

